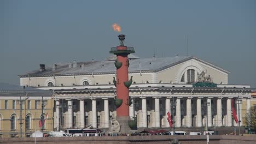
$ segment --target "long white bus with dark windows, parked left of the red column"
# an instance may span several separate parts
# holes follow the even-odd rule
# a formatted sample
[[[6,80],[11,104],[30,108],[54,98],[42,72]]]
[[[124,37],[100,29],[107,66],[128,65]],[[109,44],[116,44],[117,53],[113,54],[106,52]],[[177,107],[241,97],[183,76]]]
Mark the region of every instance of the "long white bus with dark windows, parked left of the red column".
[[[69,136],[98,136],[102,135],[100,129],[66,129],[65,133]]]

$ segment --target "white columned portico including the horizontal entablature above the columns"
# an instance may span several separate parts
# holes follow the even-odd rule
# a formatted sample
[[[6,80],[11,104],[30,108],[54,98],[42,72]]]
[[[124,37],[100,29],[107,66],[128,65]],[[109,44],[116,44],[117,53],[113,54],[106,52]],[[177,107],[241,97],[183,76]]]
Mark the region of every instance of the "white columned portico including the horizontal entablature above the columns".
[[[176,101],[173,118],[175,127],[202,127],[206,124],[205,117],[208,117],[208,127],[230,127],[234,123],[232,122],[231,99],[237,99],[240,94],[239,98],[249,103],[249,91],[251,91],[246,88],[193,88],[191,85],[190,87],[178,87],[179,85],[173,84],[165,84],[164,87],[157,85],[149,87],[150,85],[155,84],[147,83],[144,87],[130,88],[130,97],[133,101],[129,106],[130,117],[137,117],[138,128],[170,127],[166,113],[168,111],[172,113],[170,104],[172,99]],[[56,91],[55,104],[60,104],[64,99],[68,105],[63,111],[65,113],[63,128],[84,128],[89,125],[93,128],[111,127],[110,122],[115,117],[114,95],[114,89],[109,88]],[[210,103],[210,106],[204,107],[204,103]],[[226,106],[223,107],[222,103],[226,103]],[[56,110],[55,115],[59,116],[59,112]],[[55,123],[59,125],[59,122],[55,121]]]

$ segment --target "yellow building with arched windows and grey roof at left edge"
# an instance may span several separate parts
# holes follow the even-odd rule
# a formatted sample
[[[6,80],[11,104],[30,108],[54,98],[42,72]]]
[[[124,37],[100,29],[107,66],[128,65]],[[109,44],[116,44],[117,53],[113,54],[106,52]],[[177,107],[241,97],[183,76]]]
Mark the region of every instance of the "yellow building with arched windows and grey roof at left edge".
[[[52,95],[51,91],[0,83],[0,137],[53,131]]]

